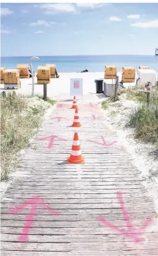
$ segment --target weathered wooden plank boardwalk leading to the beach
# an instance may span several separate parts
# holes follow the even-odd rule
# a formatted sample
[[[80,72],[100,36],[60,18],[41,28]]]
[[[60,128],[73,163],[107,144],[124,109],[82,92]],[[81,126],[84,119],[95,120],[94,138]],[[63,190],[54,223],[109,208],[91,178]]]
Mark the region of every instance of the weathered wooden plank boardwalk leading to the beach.
[[[118,142],[115,132],[104,124],[98,106],[78,103],[82,127],[75,129],[70,127],[74,110],[60,104],[43,123],[23,157],[21,175],[3,196],[1,255],[158,255],[153,201],[130,154]],[[65,119],[58,122],[54,117]],[[79,135],[84,165],[66,162],[74,132]],[[50,140],[44,137],[50,135],[58,137],[48,149]],[[135,227],[141,227],[148,216],[153,217],[152,223],[140,231],[143,241],[135,242],[137,235],[133,235],[132,228],[128,231],[131,235],[123,235],[123,231],[119,233],[98,219],[102,216],[127,230],[117,192],[122,193],[124,207]],[[30,205],[23,205],[24,208],[16,208],[17,212],[10,212],[30,198],[33,210]],[[60,215],[55,216],[46,205]],[[19,241],[22,233],[28,233],[23,236],[24,242]]]

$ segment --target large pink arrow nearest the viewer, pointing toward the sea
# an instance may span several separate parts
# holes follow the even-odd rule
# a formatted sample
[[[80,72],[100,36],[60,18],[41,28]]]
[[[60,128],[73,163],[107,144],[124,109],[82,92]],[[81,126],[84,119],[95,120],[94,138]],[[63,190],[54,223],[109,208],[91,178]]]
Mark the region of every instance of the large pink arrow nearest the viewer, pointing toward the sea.
[[[28,232],[30,228],[32,227],[32,223],[34,221],[34,216],[36,215],[36,207],[40,205],[42,208],[47,209],[51,214],[59,216],[60,213],[52,210],[47,206],[44,202],[43,199],[41,199],[38,195],[34,195],[32,198],[24,201],[21,205],[16,206],[16,208],[10,210],[8,212],[9,214],[17,214],[17,212],[20,212],[23,210],[26,206],[30,205],[30,212],[28,213],[28,216],[26,218],[26,223],[25,227],[23,227],[23,231],[21,236],[19,236],[18,240],[19,242],[28,242]]]

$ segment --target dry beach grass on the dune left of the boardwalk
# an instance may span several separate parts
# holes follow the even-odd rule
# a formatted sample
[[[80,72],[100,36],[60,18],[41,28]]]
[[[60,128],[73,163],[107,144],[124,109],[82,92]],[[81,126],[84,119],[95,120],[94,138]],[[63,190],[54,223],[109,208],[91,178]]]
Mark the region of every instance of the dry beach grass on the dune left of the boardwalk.
[[[32,100],[11,92],[1,97],[1,180],[7,180],[8,173],[16,169],[17,153],[28,146],[45,110],[52,105],[32,105]]]

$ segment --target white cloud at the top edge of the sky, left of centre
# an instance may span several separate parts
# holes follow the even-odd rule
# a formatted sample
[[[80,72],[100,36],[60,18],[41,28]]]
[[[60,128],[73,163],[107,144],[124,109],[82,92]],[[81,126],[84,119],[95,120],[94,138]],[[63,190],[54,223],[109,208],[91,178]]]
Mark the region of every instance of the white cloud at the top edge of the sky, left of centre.
[[[45,3],[40,5],[45,10],[45,14],[54,14],[57,12],[76,12],[73,3]]]

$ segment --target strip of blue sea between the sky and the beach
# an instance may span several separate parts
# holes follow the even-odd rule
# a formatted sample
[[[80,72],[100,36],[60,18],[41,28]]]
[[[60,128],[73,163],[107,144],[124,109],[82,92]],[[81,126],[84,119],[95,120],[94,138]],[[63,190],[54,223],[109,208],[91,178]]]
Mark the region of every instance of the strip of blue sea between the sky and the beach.
[[[1,67],[16,68],[17,64],[29,65],[32,56],[1,57]],[[38,66],[49,63],[56,64],[57,72],[81,72],[87,69],[89,72],[104,72],[105,65],[117,66],[117,71],[122,71],[122,66],[150,66],[158,70],[158,57],[154,55],[78,55],[78,56],[38,56],[40,59],[32,60],[35,72]]]

